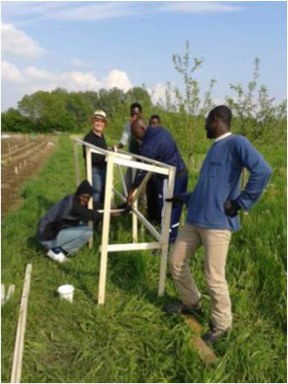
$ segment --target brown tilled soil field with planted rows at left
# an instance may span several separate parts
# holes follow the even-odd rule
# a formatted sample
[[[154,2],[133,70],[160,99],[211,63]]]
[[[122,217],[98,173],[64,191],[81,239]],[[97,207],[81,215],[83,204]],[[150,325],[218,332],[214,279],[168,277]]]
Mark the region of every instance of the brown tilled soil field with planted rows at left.
[[[34,177],[53,153],[58,137],[44,135],[2,135],[1,217],[21,205],[20,190]]]

